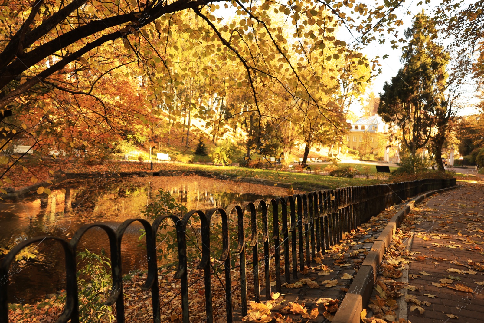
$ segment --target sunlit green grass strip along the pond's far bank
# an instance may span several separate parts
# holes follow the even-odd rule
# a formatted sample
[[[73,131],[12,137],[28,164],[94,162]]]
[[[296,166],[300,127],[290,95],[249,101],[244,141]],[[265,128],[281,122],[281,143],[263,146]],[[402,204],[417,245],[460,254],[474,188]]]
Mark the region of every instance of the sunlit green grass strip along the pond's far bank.
[[[272,169],[246,169],[242,167],[232,166],[212,166],[212,165],[180,165],[169,164],[173,169],[200,169],[205,171],[213,171],[217,173],[227,174],[237,177],[258,178],[263,180],[269,180],[274,182],[288,183],[294,186],[303,187],[315,187],[315,188],[332,188],[346,186],[360,186],[360,185],[373,185],[378,184],[380,180],[370,180],[364,178],[343,178],[343,177],[331,177],[324,175],[306,174],[306,173],[293,173],[281,170]]]

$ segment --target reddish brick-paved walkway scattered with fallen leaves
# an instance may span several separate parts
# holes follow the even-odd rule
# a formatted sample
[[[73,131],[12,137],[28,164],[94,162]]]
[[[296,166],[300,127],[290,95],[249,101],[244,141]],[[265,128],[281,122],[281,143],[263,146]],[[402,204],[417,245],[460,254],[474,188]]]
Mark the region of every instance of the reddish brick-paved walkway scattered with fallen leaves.
[[[408,293],[431,305],[420,314],[408,303],[408,321],[484,322],[484,185],[435,195],[419,211],[410,250],[425,259],[410,264],[408,282],[420,291]]]

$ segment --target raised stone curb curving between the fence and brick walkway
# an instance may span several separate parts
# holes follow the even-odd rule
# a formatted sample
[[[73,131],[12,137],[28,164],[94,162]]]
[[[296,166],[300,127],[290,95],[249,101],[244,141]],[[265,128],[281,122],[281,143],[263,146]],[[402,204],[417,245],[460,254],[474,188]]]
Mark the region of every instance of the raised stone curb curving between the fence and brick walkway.
[[[338,311],[334,315],[333,323],[360,323],[360,313],[363,308],[366,308],[373,291],[373,286],[377,279],[378,271],[383,259],[385,250],[393,240],[393,235],[395,234],[396,228],[399,227],[400,222],[403,220],[405,215],[407,215],[413,208],[415,204],[422,201],[423,199],[433,195],[435,193],[444,192],[450,189],[454,189],[457,186],[441,188],[435,191],[430,191],[419,195],[414,200],[411,200],[403,208],[398,210],[398,212],[390,219],[387,223],[383,232],[380,233],[377,240],[371,247],[370,252],[366,255],[362,266],[358,270],[358,273],[353,278],[348,292],[343,298]]]

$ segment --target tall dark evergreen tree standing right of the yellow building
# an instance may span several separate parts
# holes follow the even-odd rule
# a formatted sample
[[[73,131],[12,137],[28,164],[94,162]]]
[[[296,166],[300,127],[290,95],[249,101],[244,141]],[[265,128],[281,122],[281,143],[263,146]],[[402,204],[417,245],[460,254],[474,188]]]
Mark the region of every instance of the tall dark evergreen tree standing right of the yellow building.
[[[431,139],[434,115],[444,101],[449,54],[434,42],[437,30],[433,20],[422,11],[405,32],[401,61],[404,67],[385,82],[380,93],[378,113],[387,123],[402,130],[402,142],[415,156]]]

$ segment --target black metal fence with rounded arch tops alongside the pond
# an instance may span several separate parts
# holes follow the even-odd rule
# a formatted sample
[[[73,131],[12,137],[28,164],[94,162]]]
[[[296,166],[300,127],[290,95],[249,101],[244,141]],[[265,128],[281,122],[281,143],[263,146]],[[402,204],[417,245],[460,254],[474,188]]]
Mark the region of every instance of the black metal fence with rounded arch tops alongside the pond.
[[[54,236],[39,236],[19,243],[1,261],[0,277],[0,323],[8,320],[8,279],[9,267],[15,256],[23,248],[38,244],[43,240],[54,240],[59,243],[65,255],[66,272],[66,304],[58,323],[78,323],[78,286],[76,281],[76,249],[80,238],[86,231],[97,227],[104,230],[110,243],[110,259],[112,264],[112,293],[106,305],[116,304],[117,322],[124,323],[124,299],[122,291],[121,270],[121,239],[126,229],[133,223],[139,222],[146,231],[146,248],[148,255],[148,275],[143,290],[151,289],[152,321],[160,322],[160,296],[158,286],[158,267],[156,257],[156,235],[160,225],[171,219],[177,230],[178,240],[178,269],[175,278],[180,279],[182,322],[189,322],[189,295],[188,270],[186,253],[187,225],[195,215],[200,219],[200,232],[202,242],[202,256],[198,268],[204,269],[206,322],[213,323],[212,313],[212,278],[211,278],[211,220],[215,214],[220,215],[222,223],[222,256],[225,264],[225,294],[227,323],[233,320],[232,282],[231,271],[240,271],[240,290],[242,298],[242,316],[247,314],[249,299],[260,302],[259,263],[263,267],[265,280],[264,294],[271,299],[271,266],[270,259],[274,260],[275,291],[281,292],[283,280],[290,282],[298,278],[298,271],[310,265],[317,252],[325,253],[330,246],[342,240],[343,233],[356,229],[371,216],[380,211],[400,203],[408,197],[421,192],[455,186],[455,179],[424,179],[413,182],[402,182],[385,185],[350,186],[336,190],[323,190],[293,196],[281,197],[271,200],[256,200],[244,202],[241,205],[231,205],[227,209],[214,208],[206,212],[193,210],[183,218],[175,215],[165,215],[150,224],[146,219],[129,219],[124,221],[116,231],[105,224],[89,224],[81,227],[72,239],[66,241]],[[271,210],[272,209],[272,210]],[[271,211],[271,212],[269,212]],[[272,216],[273,227],[269,230]],[[230,250],[229,216],[234,215],[237,223],[237,247]],[[245,238],[244,216],[250,215],[250,242]],[[235,219],[234,219],[235,221]],[[257,223],[262,224],[262,234],[257,230]],[[218,232],[217,232],[218,233]],[[271,234],[272,233],[272,234]],[[259,244],[263,245],[263,257],[259,257]],[[252,252],[252,273],[246,268],[246,249]],[[232,252],[231,252],[232,251]],[[273,252],[273,255],[270,254]],[[262,251],[261,251],[262,253]],[[239,258],[240,267],[231,268],[231,255]],[[284,271],[281,274],[281,257],[284,262]],[[254,279],[254,293],[247,293],[247,274]],[[273,276],[274,276],[273,275]],[[6,277],[6,278],[5,278]],[[3,280],[5,278],[5,283]],[[147,309],[148,310],[148,309]]]

